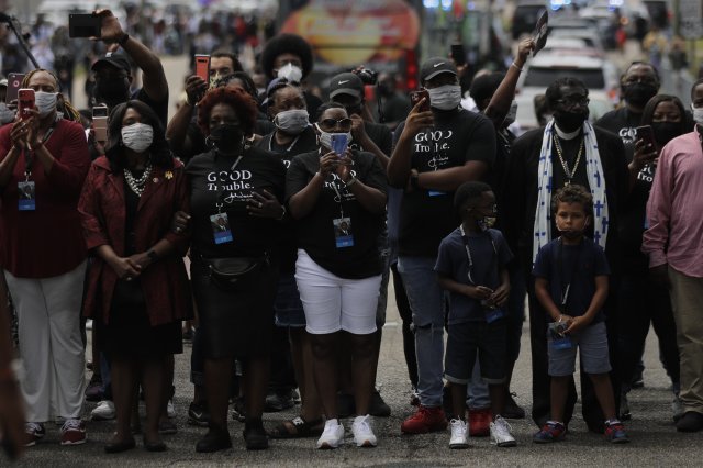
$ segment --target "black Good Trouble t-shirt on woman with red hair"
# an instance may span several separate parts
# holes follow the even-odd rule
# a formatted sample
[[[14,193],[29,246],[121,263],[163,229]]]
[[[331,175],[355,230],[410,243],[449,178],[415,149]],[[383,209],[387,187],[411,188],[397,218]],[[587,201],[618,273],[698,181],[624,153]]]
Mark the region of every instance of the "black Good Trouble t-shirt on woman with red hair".
[[[280,158],[263,149],[247,149],[234,170],[235,157],[214,152],[193,157],[186,167],[190,182],[192,249],[204,258],[258,256],[271,252],[283,234],[281,223],[248,214],[253,192],[265,189],[283,199],[286,167]],[[215,244],[210,216],[217,203],[227,213],[232,242]]]

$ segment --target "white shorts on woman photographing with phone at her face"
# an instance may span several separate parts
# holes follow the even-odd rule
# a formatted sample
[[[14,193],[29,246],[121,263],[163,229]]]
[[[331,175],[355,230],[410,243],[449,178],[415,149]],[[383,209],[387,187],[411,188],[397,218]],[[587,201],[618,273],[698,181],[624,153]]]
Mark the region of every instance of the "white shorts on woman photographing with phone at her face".
[[[355,335],[368,335],[376,332],[381,275],[364,279],[339,278],[299,249],[295,281],[305,310],[308,333],[325,335],[344,330]]]

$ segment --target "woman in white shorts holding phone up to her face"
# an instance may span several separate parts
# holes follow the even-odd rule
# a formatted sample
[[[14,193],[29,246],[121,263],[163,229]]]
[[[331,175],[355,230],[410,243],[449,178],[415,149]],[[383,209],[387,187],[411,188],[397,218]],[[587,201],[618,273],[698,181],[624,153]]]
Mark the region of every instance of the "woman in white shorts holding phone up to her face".
[[[376,308],[381,281],[377,239],[386,212],[386,174],[371,153],[348,149],[352,119],[336,103],[319,109],[317,151],[293,158],[286,198],[298,220],[295,280],[312,335],[314,380],[326,416],[317,448],[344,439],[337,420],[336,346],[350,336],[357,446],[376,446],[369,403],[373,390]]]

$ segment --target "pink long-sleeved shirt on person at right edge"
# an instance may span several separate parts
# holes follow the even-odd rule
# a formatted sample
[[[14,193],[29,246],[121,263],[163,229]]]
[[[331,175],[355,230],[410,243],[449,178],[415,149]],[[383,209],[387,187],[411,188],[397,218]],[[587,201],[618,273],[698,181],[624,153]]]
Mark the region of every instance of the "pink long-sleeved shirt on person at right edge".
[[[641,250],[649,267],[669,264],[703,278],[703,147],[698,131],[667,144],[647,202]]]

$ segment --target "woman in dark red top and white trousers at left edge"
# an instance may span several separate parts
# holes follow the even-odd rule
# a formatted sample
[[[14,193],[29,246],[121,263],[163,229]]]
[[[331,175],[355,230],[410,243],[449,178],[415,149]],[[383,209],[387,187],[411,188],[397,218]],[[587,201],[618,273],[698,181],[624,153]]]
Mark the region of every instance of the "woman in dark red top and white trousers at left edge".
[[[34,445],[45,434],[44,422],[64,417],[62,444],[75,445],[86,441],[79,328],[86,247],[76,204],[90,156],[82,126],[57,114],[56,77],[33,70],[22,87],[34,90],[36,107],[0,129],[0,264],[26,370],[25,442]]]

